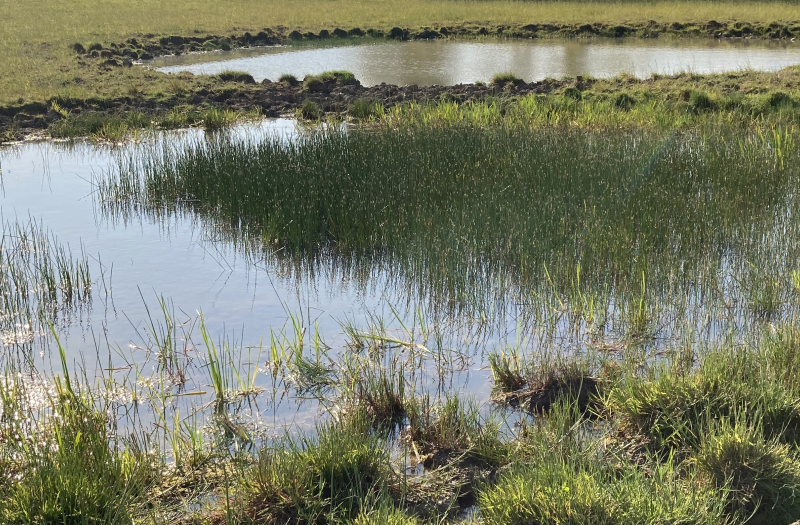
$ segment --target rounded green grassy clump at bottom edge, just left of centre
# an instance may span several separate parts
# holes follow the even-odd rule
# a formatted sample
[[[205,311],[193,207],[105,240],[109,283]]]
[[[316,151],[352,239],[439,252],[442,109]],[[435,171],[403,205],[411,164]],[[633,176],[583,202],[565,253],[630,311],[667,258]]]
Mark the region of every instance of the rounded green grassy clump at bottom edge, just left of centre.
[[[391,472],[385,443],[363,417],[265,448],[247,482],[244,513],[265,523],[336,523],[380,501]]]

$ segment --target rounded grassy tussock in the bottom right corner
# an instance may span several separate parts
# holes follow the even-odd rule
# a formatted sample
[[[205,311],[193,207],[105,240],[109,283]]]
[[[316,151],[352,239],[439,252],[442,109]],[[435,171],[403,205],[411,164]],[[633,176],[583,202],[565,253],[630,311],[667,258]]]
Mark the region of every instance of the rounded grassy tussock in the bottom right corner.
[[[800,515],[796,452],[741,419],[722,420],[712,428],[703,436],[697,469],[725,494],[728,513],[743,521],[794,522]]]

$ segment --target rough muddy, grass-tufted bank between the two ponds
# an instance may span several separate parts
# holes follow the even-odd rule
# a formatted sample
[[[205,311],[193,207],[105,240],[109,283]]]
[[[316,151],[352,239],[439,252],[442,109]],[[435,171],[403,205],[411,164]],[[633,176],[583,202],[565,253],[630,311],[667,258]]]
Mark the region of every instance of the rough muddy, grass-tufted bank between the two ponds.
[[[247,73],[235,72],[215,76],[194,76],[184,72],[173,77],[185,80],[188,89],[158,96],[54,98],[42,103],[0,107],[0,141],[21,140],[30,135],[93,135],[114,119],[128,119],[128,126],[134,128],[165,129],[207,124],[202,112],[208,110],[227,110],[248,116],[357,119],[357,106],[363,107],[364,102],[369,103],[367,106],[373,104],[390,109],[411,102],[422,105],[441,101],[463,104],[492,99],[502,104],[526,95],[546,95],[573,101],[610,98],[615,107],[620,108],[630,108],[640,101],[648,104],[667,101],[686,106],[686,111],[694,111],[692,104],[696,106],[700,104],[697,101],[702,100],[698,106],[702,112],[740,111],[737,118],[757,117],[765,112],[794,111],[800,106],[800,67],[772,73],[683,73],[670,77],[653,75],[648,79],[629,75],[608,79],[578,76],[524,82],[509,76],[498,77],[497,81],[489,84],[478,82],[455,86],[380,84],[366,87],[347,72],[309,76],[303,81],[288,77],[260,83]],[[165,118],[167,115],[169,118]]]

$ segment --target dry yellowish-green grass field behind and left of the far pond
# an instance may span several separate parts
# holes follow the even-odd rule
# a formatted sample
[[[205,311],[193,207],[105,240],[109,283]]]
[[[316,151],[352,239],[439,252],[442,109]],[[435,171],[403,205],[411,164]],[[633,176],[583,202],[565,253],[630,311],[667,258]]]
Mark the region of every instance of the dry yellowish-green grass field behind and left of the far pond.
[[[149,83],[137,68],[97,72],[80,67],[74,42],[115,42],[145,34],[230,34],[285,26],[301,30],[335,27],[391,28],[435,24],[543,22],[698,22],[800,20],[800,7],[785,3],[521,3],[453,0],[41,0],[0,3],[0,104],[55,95],[126,94]]]

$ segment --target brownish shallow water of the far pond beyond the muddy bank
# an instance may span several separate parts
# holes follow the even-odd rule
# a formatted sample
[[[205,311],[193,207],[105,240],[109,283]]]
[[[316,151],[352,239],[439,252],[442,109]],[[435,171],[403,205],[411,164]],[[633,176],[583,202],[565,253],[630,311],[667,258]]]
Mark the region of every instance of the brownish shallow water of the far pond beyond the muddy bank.
[[[246,49],[162,57],[159,71],[215,74],[246,71],[257,81],[289,73],[304,75],[341,69],[362,84],[454,85],[488,81],[511,72],[526,81],[548,77],[628,73],[719,73],[741,69],[774,71],[800,64],[800,44],[720,40],[525,40],[386,42],[325,48]]]

